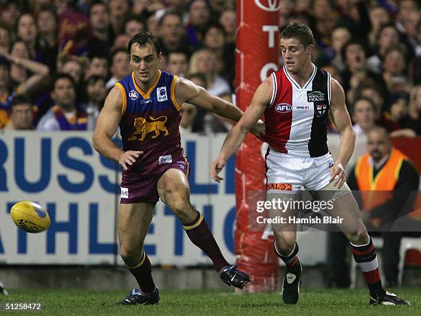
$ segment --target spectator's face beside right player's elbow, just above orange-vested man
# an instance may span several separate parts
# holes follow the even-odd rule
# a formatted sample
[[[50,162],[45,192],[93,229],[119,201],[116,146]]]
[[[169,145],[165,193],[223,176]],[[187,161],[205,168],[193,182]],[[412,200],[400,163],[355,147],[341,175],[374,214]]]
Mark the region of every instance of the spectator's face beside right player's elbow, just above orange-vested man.
[[[352,121],[357,136],[367,135],[376,126],[376,105],[368,98],[359,98],[352,106]]]

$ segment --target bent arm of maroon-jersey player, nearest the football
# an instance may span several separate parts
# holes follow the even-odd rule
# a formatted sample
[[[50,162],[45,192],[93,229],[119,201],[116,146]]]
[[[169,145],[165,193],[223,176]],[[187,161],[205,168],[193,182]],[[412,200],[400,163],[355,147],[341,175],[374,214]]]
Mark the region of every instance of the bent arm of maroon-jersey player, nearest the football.
[[[94,135],[92,136],[92,145],[98,153],[108,159],[118,161],[126,170],[127,165],[131,166],[142,152],[134,150],[124,152],[111,140],[117,131],[121,117],[122,94],[118,87],[114,87],[109,91],[104,107],[96,121]]]

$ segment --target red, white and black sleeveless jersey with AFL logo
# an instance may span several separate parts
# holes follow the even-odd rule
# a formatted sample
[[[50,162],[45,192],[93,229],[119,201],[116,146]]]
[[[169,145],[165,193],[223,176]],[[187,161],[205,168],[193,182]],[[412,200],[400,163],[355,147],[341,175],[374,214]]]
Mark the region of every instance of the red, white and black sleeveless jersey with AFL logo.
[[[273,93],[265,111],[265,141],[274,150],[296,157],[319,157],[327,149],[327,115],[331,77],[313,65],[303,88],[283,67],[272,73]]]

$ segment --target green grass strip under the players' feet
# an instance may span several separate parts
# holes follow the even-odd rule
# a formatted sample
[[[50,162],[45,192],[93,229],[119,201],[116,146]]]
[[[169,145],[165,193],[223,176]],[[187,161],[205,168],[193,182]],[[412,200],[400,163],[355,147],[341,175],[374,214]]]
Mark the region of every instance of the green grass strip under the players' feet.
[[[10,291],[4,302],[39,302],[39,312],[6,312],[0,315],[421,315],[421,288],[390,289],[410,300],[411,306],[368,305],[365,290],[312,289],[301,293],[299,303],[285,306],[281,295],[244,294],[222,291],[161,291],[155,306],[120,306],[122,291],[25,290]]]

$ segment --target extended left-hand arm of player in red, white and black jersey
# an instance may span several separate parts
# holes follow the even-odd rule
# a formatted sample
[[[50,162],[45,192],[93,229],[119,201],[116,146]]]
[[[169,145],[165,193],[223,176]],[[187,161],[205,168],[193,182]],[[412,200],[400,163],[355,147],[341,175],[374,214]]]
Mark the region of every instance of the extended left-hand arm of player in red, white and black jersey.
[[[253,95],[252,102],[241,117],[241,120],[239,120],[239,122],[231,128],[228,135],[226,135],[219,156],[210,165],[210,175],[213,180],[219,182],[223,179],[222,177],[219,177],[219,172],[224,168],[230,155],[233,155],[239,146],[241,146],[241,143],[246,138],[250,128],[255,126],[259,117],[261,117],[265,111],[266,106],[268,106],[270,99],[272,98],[272,89],[272,78],[266,78],[266,80],[257,88],[255,95]]]

